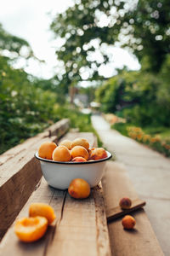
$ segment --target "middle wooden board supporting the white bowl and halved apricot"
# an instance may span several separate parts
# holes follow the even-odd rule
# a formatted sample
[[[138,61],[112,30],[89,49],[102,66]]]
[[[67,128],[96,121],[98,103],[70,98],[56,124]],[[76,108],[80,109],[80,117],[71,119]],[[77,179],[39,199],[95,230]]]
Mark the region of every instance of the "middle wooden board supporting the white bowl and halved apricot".
[[[76,137],[87,138],[90,146],[96,143],[92,133],[68,133],[65,136],[71,140]],[[19,217],[27,216],[32,201],[46,202],[54,207],[57,215],[56,225],[48,229],[42,240],[24,244],[15,236],[13,224],[3,237],[0,255],[111,255],[101,186],[92,189],[88,199],[75,200],[66,190],[50,188],[42,178],[39,188],[33,192]]]

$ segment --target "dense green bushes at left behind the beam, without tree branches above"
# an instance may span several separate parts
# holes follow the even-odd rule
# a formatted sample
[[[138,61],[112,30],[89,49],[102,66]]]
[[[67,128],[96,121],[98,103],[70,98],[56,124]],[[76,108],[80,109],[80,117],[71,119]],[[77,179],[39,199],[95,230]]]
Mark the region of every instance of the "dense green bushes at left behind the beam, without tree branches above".
[[[42,90],[27,73],[8,65],[0,56],[0,153],[34,136],[54,117],[56,95]]]

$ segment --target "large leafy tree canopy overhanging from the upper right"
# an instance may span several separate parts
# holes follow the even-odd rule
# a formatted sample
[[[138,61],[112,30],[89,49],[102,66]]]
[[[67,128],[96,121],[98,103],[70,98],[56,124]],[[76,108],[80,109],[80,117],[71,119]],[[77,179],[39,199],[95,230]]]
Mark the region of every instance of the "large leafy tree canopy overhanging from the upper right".
[[[102,79],[99,67],[110,60],[107,46],[116,42],[158,72],[170,52],[169,13],[168,0],[77,0],[51,24],[63,39],[56,50],[65,67],[62,86],[67,90],[84,77]]]

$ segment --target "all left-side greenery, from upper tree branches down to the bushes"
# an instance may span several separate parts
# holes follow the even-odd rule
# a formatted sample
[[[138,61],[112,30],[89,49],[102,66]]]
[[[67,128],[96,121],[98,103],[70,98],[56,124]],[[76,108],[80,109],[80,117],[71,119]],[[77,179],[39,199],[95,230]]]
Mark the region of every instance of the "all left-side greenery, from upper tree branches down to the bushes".
[[[7,51],[8,57],[4,55]],[[20,57],[32,55],[25,40],[10,35],[0,26],[0,154],[42,131],[52,119],[58,119],[51,81],[40,81],[12,65]]]

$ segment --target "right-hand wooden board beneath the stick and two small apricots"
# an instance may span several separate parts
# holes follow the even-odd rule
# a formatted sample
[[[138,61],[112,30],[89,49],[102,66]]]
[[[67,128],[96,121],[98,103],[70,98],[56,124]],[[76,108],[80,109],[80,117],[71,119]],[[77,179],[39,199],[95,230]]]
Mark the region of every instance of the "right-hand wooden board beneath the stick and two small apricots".
[[[112,207],[117,207],[122,197],[129,197],[133,201],[138,199],[138,195],[127,176],[126,170],[119,163],[109,162],[107,164],[102,184],[106,212],[109,212]],[[122,228],[122,218],[117,218],[108,224],[112,255],[164,255],[144,209],[133,212],[131,215],[136,219],[134,230],[124,230]]]

